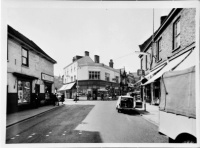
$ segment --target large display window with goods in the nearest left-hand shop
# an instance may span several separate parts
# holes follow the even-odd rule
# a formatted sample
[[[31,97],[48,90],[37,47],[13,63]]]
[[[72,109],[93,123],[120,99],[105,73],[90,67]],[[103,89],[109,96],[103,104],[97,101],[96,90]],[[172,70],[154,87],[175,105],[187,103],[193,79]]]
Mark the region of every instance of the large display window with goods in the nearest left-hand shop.
[[[18,104],[30,103],[31,84],[29,81],[18,81]]]

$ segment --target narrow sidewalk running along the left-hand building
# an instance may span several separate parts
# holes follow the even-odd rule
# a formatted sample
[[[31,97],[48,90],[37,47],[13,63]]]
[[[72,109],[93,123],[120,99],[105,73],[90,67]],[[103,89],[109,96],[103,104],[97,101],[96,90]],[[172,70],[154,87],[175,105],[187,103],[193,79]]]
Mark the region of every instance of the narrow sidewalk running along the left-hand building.
[[[59,106],[47,105],[47,106],[41,106],[41,107],[38,107],[35,109],[29,109],[29,110],[24,110],[24,111],[19,111],[19,112],[8,114],[6,117],[6,127],[9,127],[16,123],[33,118],[39,114],[43,114],[50,110],[56,109],[57,107],[60,107],[62,105],[64,105],[64,104],[59,102]]]

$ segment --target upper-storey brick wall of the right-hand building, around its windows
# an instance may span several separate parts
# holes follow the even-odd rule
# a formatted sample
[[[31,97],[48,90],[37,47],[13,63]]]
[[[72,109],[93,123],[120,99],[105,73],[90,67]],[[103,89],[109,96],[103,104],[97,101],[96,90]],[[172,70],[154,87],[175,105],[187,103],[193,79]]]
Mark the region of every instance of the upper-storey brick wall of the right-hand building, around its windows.
[[[193,8],[182,9],[182,11],[173,19],[173,21],[167,26],[167,28],[162,32],[161,35],[155,38],[155,41],[162,37],[160,57],[162,61],[167,60],[167,57],[170,57],[180,50],[183,50],[185,47],[190,45],[192,42],[195,42],[195,15],[196,10]],[[180,44],[181,47],[173,51],[173,23],[180,17]],[[154,47],[155,48],[155,47]],[[162,62],[161,61],[161,62]],[[159,63],[153,64],[153,67]]]

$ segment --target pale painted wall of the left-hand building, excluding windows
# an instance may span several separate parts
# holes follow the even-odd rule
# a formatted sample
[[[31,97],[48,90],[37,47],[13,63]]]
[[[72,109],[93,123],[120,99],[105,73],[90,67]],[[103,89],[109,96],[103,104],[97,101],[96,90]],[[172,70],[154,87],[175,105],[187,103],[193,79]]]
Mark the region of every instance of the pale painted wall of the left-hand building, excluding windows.
[[[22,58],[21,58],[22,47],[16,41],[8,39],[8,62],[7,62],[7,84],[8,92],[16,93],[17,85],[16,78],[13,76],[13,72],[18,72],[26,75],[31,75],[34,77],[38,77],[41,79],[41,73],[45,73],[48,75],[54,75],[54,64],[49,62],[48,60],[40,57],[33,51],[29,50],[29,67],[22,66]],[[32,83],[32,92],[34,93],[35,82]],[[41,86],[40,86],[41,87]],[[54,85],[52,85],[52,93],[54,92]],[[41,92],[43,93],[43,92]]]

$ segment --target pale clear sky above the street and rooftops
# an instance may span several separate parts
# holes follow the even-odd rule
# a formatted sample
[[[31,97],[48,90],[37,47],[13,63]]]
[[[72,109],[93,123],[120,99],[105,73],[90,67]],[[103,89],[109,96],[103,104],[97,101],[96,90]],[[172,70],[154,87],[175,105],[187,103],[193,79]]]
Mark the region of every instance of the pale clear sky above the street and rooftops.
[[[138,7],[139,6],[139,7]],[[168,15],[173,5],[135,2],[66,2],[9,0],[5,4],[5,22],[35,42],[57,61],[54,75],[63,75],[63,68],[76,55],[99,55],[100,63],[127,72],[140,69],[142,44],[160,26],[160,16]]]

